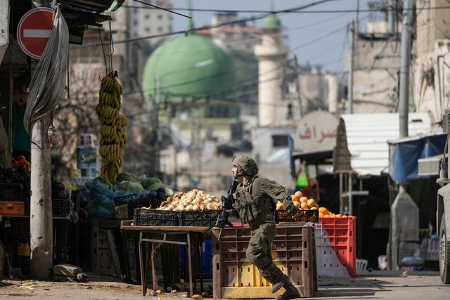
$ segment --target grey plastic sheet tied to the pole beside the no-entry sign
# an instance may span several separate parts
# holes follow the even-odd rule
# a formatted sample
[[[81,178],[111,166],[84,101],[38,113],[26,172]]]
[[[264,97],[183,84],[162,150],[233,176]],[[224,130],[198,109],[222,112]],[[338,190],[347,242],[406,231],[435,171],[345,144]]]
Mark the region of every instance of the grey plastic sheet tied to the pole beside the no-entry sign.
[[[32,77],[23,120],[30,135],[36,122],[51,116],[64,92],[65,73],[68,68],[69,29],[57,5],[53,6],[53,11],[53,28]]]

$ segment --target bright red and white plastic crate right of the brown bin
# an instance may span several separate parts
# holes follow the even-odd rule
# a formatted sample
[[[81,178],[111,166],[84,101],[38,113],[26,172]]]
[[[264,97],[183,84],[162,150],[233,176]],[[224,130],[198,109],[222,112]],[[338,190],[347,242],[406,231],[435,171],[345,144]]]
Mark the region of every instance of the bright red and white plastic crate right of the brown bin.
[[[315,236],[319,276],[356,277],[356,216],[320,218]]]

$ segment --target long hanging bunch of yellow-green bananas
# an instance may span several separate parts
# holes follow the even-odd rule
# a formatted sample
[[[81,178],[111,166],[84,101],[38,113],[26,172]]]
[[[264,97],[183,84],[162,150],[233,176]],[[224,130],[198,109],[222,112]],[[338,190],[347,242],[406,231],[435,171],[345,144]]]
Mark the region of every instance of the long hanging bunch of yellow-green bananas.
[[[116,79],[117,71],[110,72],[101,79],[96,112],[100,119],[100,156],[102,159],[101,175],[106,183],[115,181],[120,168],[124,164],[122,158],[124,145],[128,143],[128,136],[124,128],[128,120],[120,115],[120,95],[123,88]]]

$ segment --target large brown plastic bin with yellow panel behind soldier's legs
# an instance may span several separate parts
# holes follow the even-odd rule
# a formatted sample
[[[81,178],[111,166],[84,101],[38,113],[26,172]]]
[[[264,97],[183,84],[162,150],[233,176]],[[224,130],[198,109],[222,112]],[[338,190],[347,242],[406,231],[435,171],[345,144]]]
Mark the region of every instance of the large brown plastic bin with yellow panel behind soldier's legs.
[[[237,224],[236,224],[237,225]],[[225,227],[218,241],[219,229],[212,228],[212,284],[214,299],[274,298],[272,285],[248,261],[245,252],[250,229]],[[317,292],[316,249],[312,223],[279,224],[272,242],[272,258],[288,275],[302,296]],[[281,289],[276,294],[283,294]]]

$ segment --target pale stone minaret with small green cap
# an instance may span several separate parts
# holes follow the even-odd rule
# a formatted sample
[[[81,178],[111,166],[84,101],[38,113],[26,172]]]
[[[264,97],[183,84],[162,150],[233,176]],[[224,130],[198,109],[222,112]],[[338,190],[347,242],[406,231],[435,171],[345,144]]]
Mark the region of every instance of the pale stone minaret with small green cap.
[[[259,126],[274,126],[285,118],[280,113],[281,84],[288,47],[281,44],[281,37],[281,22],[272,13],[264,19],[262,43],[254,49],[259,63]]]

